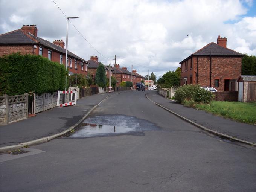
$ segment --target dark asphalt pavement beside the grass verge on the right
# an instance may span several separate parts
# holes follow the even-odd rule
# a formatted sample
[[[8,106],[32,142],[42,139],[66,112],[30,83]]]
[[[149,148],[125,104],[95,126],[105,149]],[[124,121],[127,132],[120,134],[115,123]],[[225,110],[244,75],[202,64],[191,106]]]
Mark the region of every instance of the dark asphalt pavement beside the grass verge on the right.
[[[237,137],[248,142],[256,143],[256,126],[246,123],[236,122],[224,117],[206,113],[202,110],[185,107],[175,101],[166,99],[156,91],[148,91],[147,96],[153,102],[162,105],[163,107],[177,113],[189,120],[198,123],[210,130],[227,134],[232,137]]]

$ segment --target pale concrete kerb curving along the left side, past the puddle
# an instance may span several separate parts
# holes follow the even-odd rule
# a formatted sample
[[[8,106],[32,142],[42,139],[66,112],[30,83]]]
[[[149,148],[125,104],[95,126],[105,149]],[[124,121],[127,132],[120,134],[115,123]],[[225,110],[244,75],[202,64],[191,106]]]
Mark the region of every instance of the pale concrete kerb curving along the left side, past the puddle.
[[[116,94],[120,94],[120,93],[116,93]],[[10,145],[10,146],[4,146],[4,147],[1,147],[0,148],[0,152],[4,152],[4,151],[13,151],[13,150],[17,150],[17,149],[20,149],[20,148],[23,148],[24,146],[32,146],[32,145],[39,145],[41,143],[46,143],[52,139],[55,139],[59,136],[62,136],[66,133],[69,133],[71,130],[77,128],[83,121],[84,119],[95,109],[97,108],[103,101],[105,101],[107,98],[111,97],[111,96],[114,96],[116,94],[113,94],[113,95],[109,95],[107,97],[105,97],[104,99],[102,99],[101,102],[99,102],[98,104],[94,105],[93,108],[91,108],[83,117],[82,119],[80,119],[75,125],[73,126],[70,126],[68,129],[66,129],[65,131],[62,131],[60,133],[57,133],[57,134],[54,134],[54,135],[51,135],[51,136],[48,136],[48,137],[43,137],[43,138],[40,138],[40,139],[35,139],[35,140],[31,140],[31,141],[27,141],[27,142],[23,142],[23,143],[20,143],[18,145]]]

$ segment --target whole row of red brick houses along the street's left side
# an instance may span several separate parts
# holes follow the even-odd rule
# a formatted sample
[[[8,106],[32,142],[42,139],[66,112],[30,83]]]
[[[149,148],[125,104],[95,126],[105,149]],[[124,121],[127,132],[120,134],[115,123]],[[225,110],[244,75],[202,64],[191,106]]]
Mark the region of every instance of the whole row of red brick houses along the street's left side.
[[[21,29],[14,30],[0,35],[0,56],[9,55],[20,52],[21,54],[41,55],[60,64],[67,64],[70,75],[83,74],[88,77],[90,74],[95,78],[96,70],[100,64],[97,56],[91,56],[90,60],[83,59],[74,53],[68,51],[66,59],[66,49],[63,40],[47,41],[37,36],[37,26],[23,25]],[[116,72],[114,67],[109,69],[105,66],[105,75],[109,77],[116,74],[117,86],[122,81],[131,81],[136,86],[136,82],[145,80],[145,77],[139,75],[136,70],[130,72],[126,67],[120,68],[116,64]],[[133,77],[132,77],[133,76]]]

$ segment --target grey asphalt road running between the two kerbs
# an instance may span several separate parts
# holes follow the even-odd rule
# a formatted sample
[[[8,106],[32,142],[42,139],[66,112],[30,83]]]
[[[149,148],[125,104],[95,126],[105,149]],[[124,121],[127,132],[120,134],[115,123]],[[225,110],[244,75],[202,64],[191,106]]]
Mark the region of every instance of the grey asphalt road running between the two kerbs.
[[[110,97],[85,120],[91,128],[134,128],[128,134],[62,137],[2,156],[0,191],[256,191],[255,147],[184,122],[146,92]]]

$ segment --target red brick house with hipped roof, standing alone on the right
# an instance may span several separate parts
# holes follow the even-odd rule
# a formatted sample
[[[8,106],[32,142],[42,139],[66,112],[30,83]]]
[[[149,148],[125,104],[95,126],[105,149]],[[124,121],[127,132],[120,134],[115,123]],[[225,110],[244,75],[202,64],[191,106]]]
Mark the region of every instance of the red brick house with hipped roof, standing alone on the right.
[[[209,43],[180,62],[181,85],[199,84],[218,91],[237,91],[244,55],[227,48],[227,38]]]

